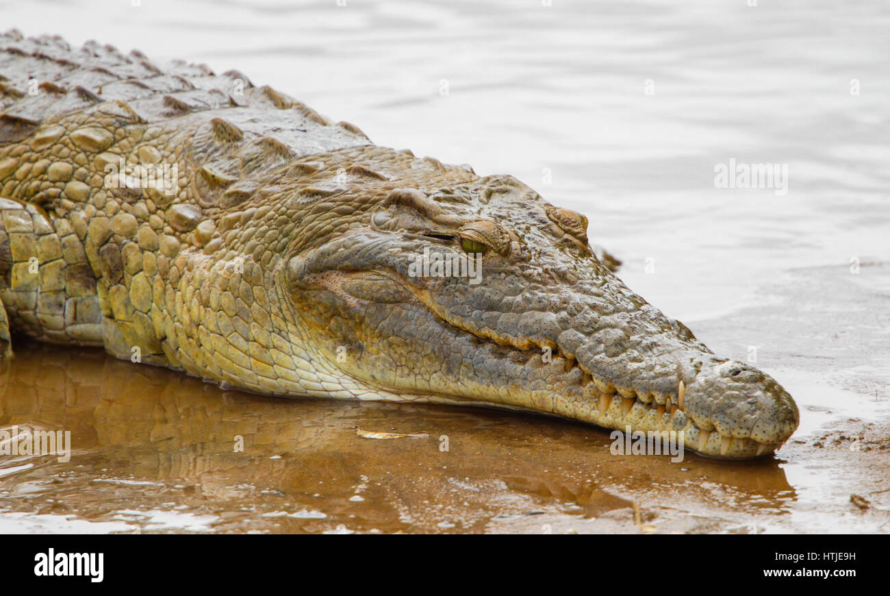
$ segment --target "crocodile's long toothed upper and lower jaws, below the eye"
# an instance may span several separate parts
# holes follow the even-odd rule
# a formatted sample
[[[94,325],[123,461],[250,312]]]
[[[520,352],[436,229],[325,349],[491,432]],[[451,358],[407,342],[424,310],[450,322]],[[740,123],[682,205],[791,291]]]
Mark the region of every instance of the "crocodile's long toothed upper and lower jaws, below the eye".
[[[717,458],[772,453],[797,429],[774,380],[713,355],[592,255],[572,253],[570,279],[549,285],[538,272],[562,265],[564,250],[486,255],[479,284],[411,276],[431,246],[442,248],[368,229],[287,265],[282,287],[321,357],[381,398],[683,431],[684,448]]]

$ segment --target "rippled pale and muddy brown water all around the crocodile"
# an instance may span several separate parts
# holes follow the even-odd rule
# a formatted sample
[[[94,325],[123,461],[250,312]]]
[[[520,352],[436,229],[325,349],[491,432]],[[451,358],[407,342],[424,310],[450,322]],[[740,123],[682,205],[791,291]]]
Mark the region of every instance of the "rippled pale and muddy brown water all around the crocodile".
[[[585,213],[632,289],[756,358],[801,429],[774,460],[672,464],[564,420],[247,396],[19,342],[0,426],[69,429],[73,453],[0,455],[0,531],[890,530],[886,441],[822,440],[890,409],[886,2],[345,4],[6,2],[0,27],[239,69],[376,143],[518,176]],[[733,158],[787,164],[788,192],[715,188]]]

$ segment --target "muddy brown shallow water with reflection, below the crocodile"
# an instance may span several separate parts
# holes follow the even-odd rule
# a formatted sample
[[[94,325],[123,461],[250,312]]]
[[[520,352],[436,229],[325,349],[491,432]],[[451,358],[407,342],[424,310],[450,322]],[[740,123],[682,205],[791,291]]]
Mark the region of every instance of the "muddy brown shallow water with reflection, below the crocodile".
[[[732,490],[754,512],[794,499],[775,461],[610,454],[609,434],[570,421],[433,405],[284,401],[225,392],[101,351],[28,344],[0,374],[0,427],[71,431],[69,463],[0,457],[0,509],[107,518],[178,506],[214,529],[482,532],[537,510],[587,517],[633,494]],[[356,429],[429,437],[373,440]],[[243,442],[243,450],[239,443]],[[543,449],[542,449],[543,445]],[[722,485],[710,494],[704,486]],[[656,499],[657,501],[658,499]],[[569,503],[571,503],[569,505]],[[282,512],[308,511],[301,518]],[[322,515],[323,514],[323,515]]]

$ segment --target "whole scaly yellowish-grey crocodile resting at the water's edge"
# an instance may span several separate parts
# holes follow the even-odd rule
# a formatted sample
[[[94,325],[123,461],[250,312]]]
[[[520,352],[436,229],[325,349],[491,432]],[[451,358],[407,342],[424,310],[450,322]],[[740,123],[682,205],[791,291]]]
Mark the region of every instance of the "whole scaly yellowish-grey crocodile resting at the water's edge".
[[[771,454],[797,405],[619,280],[586,216],[234,70],[0,37],[10,331],[292,397],[466,404]]]

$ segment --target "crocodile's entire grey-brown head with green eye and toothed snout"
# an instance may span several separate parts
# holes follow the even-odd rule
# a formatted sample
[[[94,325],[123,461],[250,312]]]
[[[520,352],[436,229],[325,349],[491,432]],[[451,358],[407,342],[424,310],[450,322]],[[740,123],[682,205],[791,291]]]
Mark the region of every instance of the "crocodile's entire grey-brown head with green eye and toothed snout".
[[[362,204],[288,257],[283,285],[318,357],[363,397],[683,430],[685,448],[723,458],[770,453],[797,429],[776,381],[628,290],[590,249],[586,217],[514,178],[390,184]]]

